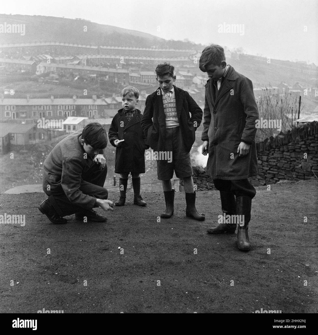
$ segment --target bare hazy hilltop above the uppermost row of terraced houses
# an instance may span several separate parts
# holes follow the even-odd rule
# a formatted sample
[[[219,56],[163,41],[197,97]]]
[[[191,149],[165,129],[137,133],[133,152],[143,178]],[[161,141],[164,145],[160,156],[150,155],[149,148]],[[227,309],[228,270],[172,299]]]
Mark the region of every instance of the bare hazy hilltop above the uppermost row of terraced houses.
[[[0,14],[0,24],[19,25],[23,35],[1,34],[1,44],[34,42],[60,42],[77,45],[111,45],[139,48],[200,49],[201,45],[192,42],[167,41],[145,32],[98,24],[85,19],[68,19],[40,15]],[[9,30],[9,29],[8,29]]]

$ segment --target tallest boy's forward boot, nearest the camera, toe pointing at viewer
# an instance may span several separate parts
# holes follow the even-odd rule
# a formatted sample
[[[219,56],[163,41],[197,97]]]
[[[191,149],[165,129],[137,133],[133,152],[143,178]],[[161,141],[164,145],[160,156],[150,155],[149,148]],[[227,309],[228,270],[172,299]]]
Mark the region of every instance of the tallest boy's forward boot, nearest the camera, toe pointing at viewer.
[[[251,248],[250,240],[248,238],[248,224],[251,220],[251,206],[252,198],[246,196],[236,198],[236,214],[240,215],[240,218],[244,217],[244,225],[241,227],[239,224],[237,229],[237,246],[241,250],[249,250]]]

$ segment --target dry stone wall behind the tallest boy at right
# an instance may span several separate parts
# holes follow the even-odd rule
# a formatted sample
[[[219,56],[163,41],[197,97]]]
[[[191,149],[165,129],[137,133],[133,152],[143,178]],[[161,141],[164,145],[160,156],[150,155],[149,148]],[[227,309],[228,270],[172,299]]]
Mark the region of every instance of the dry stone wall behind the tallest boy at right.
[[[254,186],[318,177],[317,121],[256,143],[256,149],[258,176],[251,178]],[[201,166],[193,167],[193,182],[198,191],[215,189],[212,179]]]

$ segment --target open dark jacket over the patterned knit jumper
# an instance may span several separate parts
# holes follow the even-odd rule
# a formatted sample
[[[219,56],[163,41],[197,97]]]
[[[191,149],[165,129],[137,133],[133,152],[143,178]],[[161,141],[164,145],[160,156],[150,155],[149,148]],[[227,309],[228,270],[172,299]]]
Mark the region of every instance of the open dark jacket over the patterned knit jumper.
[[[195,141],[195,131],[202,122],[203,112],[187,91],[173,86],[181,134],[188,152]],[[191,114],[191,117],[190,117]],[[153,118],[153,121],[151,120]],[[194,122],[196,121],[196,127]],[[166,115],[160,87],[147,96],[141,126],[154,151],[165,151]]]

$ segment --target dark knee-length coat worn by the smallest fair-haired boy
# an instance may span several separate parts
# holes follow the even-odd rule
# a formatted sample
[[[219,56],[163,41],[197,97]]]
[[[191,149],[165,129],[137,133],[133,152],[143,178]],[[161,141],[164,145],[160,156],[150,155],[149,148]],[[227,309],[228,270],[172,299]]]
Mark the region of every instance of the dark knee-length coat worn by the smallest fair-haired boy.
[[[141,118],[142,114],[138,109],[130,121],[123,109],[113,118],[108,132],[110,143],[116,147],[116,139],[125,140],[121,142],[121,146],[116,147],[115,173],[145,173],[145,149],[149,146],[140,125]]]

